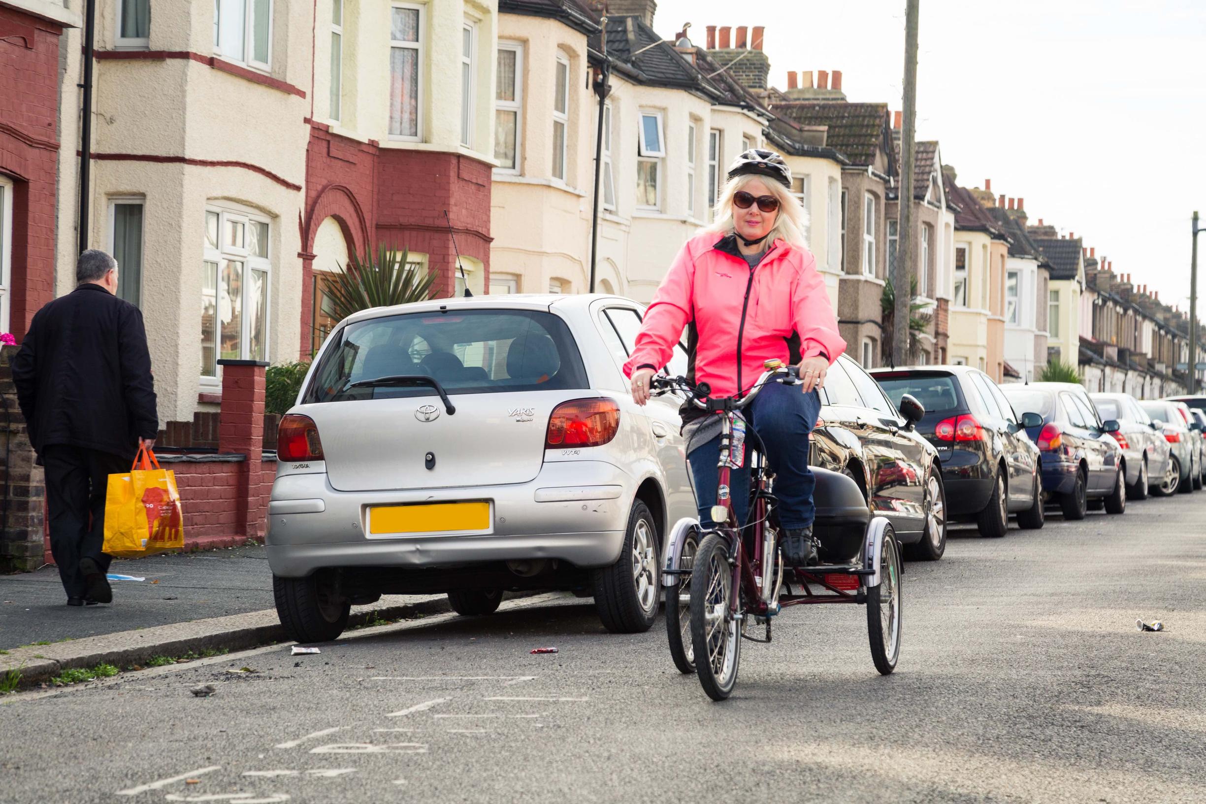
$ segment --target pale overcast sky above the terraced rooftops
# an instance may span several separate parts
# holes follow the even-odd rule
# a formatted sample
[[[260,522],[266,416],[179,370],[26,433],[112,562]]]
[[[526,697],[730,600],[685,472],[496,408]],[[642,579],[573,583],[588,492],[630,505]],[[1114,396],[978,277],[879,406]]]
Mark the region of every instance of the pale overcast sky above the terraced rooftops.
[[[901,109],[904,0],[739,5],[657,0],[654,28],[669,39],[690,22],[702,47],[707,25],[765,25],[772,86],[841,70],[849,100]],[[1031,222],[1083,237],[1188,310],[1190,216],[1206,215],[1206,2],[920,0],[917,109],[918,139],[939,141],[960,185],[991,179]]]

